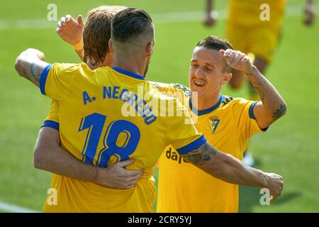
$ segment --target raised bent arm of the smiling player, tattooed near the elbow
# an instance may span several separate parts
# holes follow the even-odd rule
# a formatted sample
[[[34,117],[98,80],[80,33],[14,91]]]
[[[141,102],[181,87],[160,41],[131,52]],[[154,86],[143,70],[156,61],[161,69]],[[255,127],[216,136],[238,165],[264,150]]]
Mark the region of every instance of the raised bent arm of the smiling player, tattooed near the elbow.
[[[236,50],[220,50],[220,54],[235,70],[247,74],[248,79],[259,93],[261,102],[254,106],[254,116],[260,128],[267,128],[286,114],[286,104],[276,88],[252,65],[244,53]]]

